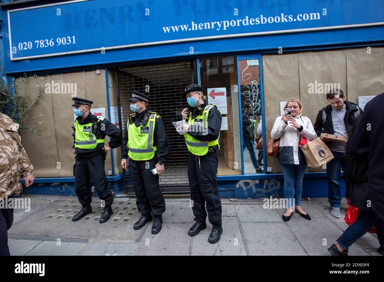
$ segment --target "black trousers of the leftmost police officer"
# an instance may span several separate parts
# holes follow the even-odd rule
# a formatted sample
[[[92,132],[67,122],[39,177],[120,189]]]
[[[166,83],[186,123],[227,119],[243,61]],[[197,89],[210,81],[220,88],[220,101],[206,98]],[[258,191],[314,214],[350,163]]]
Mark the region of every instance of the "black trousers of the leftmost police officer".
[[[104,156],[101,150],[100,154],[94,157],[81,158],[81,156],[78,156],[76,159],[74,188],[83,207],[91,206],[92,190],[90,180],[92,180],[100,200],[105,201],[105,206],[110,206],[113,202],[113,196],[105,175]]]

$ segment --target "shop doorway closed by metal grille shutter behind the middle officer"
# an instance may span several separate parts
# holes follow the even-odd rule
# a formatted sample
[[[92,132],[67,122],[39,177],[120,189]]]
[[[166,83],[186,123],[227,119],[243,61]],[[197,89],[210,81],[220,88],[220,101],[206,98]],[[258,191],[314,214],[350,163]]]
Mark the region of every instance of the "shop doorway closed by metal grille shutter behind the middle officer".
[[[197,83],[196,61],[180,61],[164,64],[129,66],[117,69],[118,103],[122,109],[121,124],[126,129],[126,121],[132,111],[128,98],[136,90],[151,97],[149,109],[157,112],[164,121],[168,143],[169,159],[166,171],[160,176],[162,193],[189,193],[187,176],[188,150],[183,135],[176,132],[172,122],[181,120],[181,110],[187,104],[182,99],[184,89]],[[134,194],[129,171],[123,173],[127,194]]]

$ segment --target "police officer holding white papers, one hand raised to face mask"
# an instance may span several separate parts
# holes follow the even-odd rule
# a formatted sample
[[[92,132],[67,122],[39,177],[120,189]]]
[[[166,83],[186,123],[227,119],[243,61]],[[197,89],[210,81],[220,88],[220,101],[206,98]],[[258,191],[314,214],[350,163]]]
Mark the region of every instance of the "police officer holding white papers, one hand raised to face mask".
[[[205,89],[198,84],[190,84],[184,95],[190,107],[182,110],[182,117],[187,121],[183,129],[185,143],[189,150],[188,179],[191,190],[192,211],[196,223],[188,234],[195,236],[207,228],[205,218],[213,225],[208,241],[212,244],[220,240],[223,233],[221,219],[221,200],[216,181],[218,158],[216,151],[220,148],[218,137],[221,128],[221,114],[214,104],[208,104],[203,95]],[[205,206],[207,211],[205,211]]]

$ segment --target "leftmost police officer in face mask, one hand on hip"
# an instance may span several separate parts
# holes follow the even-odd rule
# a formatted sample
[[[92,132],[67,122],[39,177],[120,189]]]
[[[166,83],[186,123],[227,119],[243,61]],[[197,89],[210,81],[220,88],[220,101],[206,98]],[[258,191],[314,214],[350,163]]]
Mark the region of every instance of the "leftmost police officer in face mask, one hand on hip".
[[[73,112],[77,118],[73,122],[73,153],[76,154],[74,165],[74,187],[79,202],[83,208],[72,221],[78,221],[92,212],[92,192],[90,180],[98,192],[99,198],[104,201],[104,211],[99,223],[104,223],[113,214],[111,205],[113,196],[105,175],[104,161],[106,153],[121,145],[121,130],[107,119],[91,114],[92,101],[83,98],[73,98]],[[110,141],[104,145],[105,135]]]

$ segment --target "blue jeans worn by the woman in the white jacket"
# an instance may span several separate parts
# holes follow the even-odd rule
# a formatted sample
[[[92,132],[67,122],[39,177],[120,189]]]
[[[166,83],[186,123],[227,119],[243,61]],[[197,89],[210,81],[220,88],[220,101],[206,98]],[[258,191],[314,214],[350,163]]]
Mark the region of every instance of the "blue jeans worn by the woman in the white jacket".
[[[284,175],[284,197],[288,199],[288,208],[293,208],[293,198],[295,198],[295,205],[300,206],[303,177],[307,165],[290,163],[280,163],[280,165]]]

